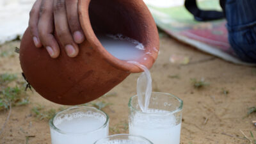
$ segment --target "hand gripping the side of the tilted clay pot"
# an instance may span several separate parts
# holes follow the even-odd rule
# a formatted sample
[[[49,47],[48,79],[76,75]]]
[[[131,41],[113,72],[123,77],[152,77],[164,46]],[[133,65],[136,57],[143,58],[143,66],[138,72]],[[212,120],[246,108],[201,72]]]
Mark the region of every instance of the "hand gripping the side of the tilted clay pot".
[[[58,58],[60,45],[67,55],[77,56],[85,36],[79,22],[78,0],[36,0],[29,13],[29,30],[36,47],[44,46],[51,58]]]

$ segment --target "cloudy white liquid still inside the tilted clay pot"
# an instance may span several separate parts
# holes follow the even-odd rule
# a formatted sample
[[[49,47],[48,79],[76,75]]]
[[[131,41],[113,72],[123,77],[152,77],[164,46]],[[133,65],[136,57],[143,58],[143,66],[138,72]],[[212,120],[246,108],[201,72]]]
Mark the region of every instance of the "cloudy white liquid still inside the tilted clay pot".
[[[102,46],[120,60],[138,60],[145,55],[145,48],[140,42],[123,35],[97,35]]]

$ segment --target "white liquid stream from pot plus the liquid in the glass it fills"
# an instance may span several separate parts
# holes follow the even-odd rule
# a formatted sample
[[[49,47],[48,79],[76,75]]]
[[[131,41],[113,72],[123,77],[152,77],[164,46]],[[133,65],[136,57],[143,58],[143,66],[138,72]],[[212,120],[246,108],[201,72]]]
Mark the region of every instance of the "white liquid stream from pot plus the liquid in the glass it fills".
[[[149,70],[138,62],[128,61],[128,63],[134,63],[144,70],[137,82],[138,104],[143,113],[135,113],[132,116],[129,122],[129,134],[144,136],[154,144],[179,144],[181,123],[176,125],[175,116],[169,111],[148,108],[152,94],[152,78]]]

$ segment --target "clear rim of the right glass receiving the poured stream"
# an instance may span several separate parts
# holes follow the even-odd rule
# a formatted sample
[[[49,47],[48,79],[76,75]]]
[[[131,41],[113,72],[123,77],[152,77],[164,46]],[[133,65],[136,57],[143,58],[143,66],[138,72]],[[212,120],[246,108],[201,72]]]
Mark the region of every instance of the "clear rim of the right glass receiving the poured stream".
[[[158,94],[163,94],[163,95],[169,95],[171,97],[174,97],[175,99],[177,99],[179,102],[180,102],[180,106],[179,108],[173,110],[173,111],[167,111],[167,112],[164,112],[164,113],[168,113],[168,114],[173,114],[173,113],[177,113],[179,111],[182,111],[182,108],[183,108],[183,100],[180,99],[179,97],[176,97],[175,95],[172,95],[171,93],[163,93],[163,92],[152,92],[153,93],[158,93]],[[138,95],[134,95],[130,98],[129,100],[129,103],[128,103],[128,107],[133,109],[134,111],[138,112],[138,113],[143,113],[143,114],[147,114],[147,115],[156,115],[156,113],[147,113],[147,112],[143,112],[141,111],[141,109],[137,109],[137,108],[134,108],[134,106],[132,106],[132,99],[134,99],[135,97],[138,97]],[[161,114],[164,114],[164,113],[161,113]]]

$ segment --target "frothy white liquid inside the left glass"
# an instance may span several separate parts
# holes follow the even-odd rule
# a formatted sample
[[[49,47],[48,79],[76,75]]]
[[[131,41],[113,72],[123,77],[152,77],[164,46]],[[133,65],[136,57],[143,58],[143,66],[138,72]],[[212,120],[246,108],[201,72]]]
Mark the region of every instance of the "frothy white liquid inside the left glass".
[[[103,115],[92,111],[58,117],[54,125],[65,133],[51,127],[52,144],[93,144],[100,138],[108,136],[108,125],[100,128],[105,122],[106,118]]]

